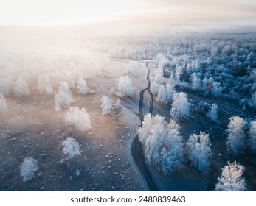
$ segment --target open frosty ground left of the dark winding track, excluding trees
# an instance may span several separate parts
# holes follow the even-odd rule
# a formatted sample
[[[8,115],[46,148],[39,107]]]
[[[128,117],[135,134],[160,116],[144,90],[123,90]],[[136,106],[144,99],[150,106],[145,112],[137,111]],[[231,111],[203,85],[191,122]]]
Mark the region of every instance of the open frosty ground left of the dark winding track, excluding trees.
[[[69,53],[77,50],[83,52],[81,48],[66,48]],[[102,74],[94,80],[109,93],[128,63],[108,60],[103,63]],[[113,72],[108,68],[113,68]],[[38,93],[37,85],[30,85],[30,96],[18,97],[13,93],[7,96],[9,111],[0,116],[1,191],[147,190],[130,152],[138,118],[126,110],[118,121],[102,116],[103,94],[93,81],[87,80],[87,85],[94,93],[82,95],[72,89],[72,106],[85,107],[91,117],[92,129],[86,132],[66,126],[63,116],[67,108],[57,113],[53,96]],[[122,101],[129,104],[125,99]],[[66,160],[61,143],[67,137],[80,143],[81,156]],[[35,177],[27,182],[19,174],[24,157],[38,161]]]

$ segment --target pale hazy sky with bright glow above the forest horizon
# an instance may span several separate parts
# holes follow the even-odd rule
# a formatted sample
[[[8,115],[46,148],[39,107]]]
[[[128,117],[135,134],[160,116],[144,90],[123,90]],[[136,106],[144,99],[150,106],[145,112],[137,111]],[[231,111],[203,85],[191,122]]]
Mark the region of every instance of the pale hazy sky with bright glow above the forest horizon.
[[[0,0],[0,25],[94,25],[94,32],[256,26],[255,0]],[[90,31],[91,32],[91,31]]]

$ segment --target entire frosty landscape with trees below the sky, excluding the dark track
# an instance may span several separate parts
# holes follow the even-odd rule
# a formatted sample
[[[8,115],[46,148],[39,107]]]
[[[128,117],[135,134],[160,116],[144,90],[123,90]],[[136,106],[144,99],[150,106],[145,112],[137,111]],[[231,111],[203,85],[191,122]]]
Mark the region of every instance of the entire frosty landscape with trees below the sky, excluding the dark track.
[[[1,191],[256,190],[255,35],[0,42]]]

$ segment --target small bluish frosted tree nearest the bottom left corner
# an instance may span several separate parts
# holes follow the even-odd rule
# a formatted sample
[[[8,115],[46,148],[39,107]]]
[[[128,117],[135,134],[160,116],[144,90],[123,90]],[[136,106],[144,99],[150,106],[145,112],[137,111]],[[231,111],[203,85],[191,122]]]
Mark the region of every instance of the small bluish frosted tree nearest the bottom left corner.
[[[23,177],[23,182],[32,180],[35,177],[35,172],[38,170],[38,162],[32,157],[26,157],[20,166],[20,174]]]

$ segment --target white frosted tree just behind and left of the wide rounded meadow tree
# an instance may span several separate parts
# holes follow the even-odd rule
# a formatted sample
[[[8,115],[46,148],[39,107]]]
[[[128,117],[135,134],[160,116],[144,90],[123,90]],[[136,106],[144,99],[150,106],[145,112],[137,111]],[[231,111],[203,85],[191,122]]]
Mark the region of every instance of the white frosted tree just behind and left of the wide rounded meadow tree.
[[[66,82],[61,82],[58,93],[55,93],[55,110],[61,111],[61,105],[68,107],[73,102],[73,95]]]

